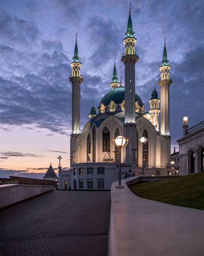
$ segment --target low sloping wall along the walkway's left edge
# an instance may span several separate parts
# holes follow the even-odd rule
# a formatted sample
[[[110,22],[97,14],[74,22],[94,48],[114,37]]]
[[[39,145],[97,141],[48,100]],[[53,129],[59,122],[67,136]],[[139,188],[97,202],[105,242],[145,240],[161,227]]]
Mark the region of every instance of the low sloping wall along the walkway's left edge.
[[[18,202],[28,200],[37,195],[54,190],[54,186],[37,185],[1,185],[0,186],[0,210],[12,206]]]

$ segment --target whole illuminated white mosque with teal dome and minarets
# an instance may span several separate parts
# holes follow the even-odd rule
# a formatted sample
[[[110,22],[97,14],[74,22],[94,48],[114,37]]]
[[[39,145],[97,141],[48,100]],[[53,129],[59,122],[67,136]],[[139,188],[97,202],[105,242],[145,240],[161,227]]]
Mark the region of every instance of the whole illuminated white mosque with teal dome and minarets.
[[[71,62],[72,76],[72,133],[70,142],[71,169],[59,168],[59,189],[110,189],[118,179],[118,149],[112,138],[123,135],[129,143],[121,151],[122,177],[128,170],[142,174],[142,161],[145,176],[167,176],[170,173],[170,65],[164,40],[158,85],[161,99],[154,88],[150,94],[149,109],[145,112],[142,99],[136,93],[135,68],[139,56],[135,51],[137,39],[134,36],[131,11],[124,38],[124,86],[118,82],[114,63],[110,91],[102,97],[99,106],[92,106],[90,120],[80,131],[80,58],[77,38]],[[160,109],[161,106],[161,109]],[[161,116],[161,117],[160,117]],[[159,127],[160,118],[160,127]],[[139,139],[145,137],[143,145]]]

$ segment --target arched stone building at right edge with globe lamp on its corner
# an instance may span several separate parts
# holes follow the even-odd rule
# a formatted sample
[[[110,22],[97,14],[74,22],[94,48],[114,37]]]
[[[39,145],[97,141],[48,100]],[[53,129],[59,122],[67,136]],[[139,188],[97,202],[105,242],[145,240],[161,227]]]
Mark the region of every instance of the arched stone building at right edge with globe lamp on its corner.
[[[204,121],[189,128],[188,118],[183,118],[183,137],[179,143],[179,175],[204,171]]]

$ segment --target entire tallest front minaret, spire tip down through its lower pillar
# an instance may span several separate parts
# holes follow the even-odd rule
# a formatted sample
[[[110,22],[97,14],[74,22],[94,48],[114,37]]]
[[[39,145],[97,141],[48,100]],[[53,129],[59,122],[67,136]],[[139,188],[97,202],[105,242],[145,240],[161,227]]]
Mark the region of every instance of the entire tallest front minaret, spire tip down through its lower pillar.
[[[130,3],[131,6],[131,3]],[[121,61],[125,65],[125,124],[124,137],[129,138],[129,143],[124,149],[124,162],[134,164],[131,149],[136,148],[136,123],[135,123],[135,64],[139,57],[135,53],[135,44],[131,12],[127,23],[127,32],[125,33],[123,43],[125,45],[125,54]]]

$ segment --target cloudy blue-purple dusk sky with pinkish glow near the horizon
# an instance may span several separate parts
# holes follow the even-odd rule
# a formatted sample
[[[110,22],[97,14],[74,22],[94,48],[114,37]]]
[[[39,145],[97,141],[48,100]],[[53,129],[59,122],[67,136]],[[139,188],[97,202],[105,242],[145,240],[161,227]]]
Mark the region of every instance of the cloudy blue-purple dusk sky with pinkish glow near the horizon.
[[[124,77],[123,38],[129,1],[0,1],[0,177],[41,178],[59,155],[70,165],[71,75],[75,34],[82,63],[81,128],[94,100]],[[164,49],[170,77],[171,149],[182,137],[182,118],[189,127],[204,119],[204,2],[202,0],[132,1],[135,32],[136,93],[149,109]],[[124,84],[124,80],[122,79]]]

